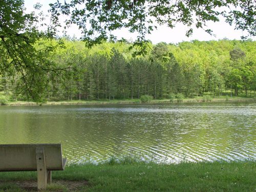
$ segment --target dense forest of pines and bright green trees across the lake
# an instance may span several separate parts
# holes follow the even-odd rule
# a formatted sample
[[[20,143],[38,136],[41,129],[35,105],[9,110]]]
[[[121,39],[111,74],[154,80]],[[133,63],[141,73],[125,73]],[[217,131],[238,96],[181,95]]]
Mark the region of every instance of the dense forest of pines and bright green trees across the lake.
[[[62,39],[47,55],[61,73],[42,78],[46,100],[155,99],[182,93],[186,97],[223,94],[251,95],[256,91],[256,42],[247,40],[191,41],[177,45],[148,44],[147,54],[134,56],[129,43],[104,42],[87,49],[84,42]],[[41,40],[41,45],[57,40]],[[0,76],[0,91],[14,100],[27,100],[22,76]]]

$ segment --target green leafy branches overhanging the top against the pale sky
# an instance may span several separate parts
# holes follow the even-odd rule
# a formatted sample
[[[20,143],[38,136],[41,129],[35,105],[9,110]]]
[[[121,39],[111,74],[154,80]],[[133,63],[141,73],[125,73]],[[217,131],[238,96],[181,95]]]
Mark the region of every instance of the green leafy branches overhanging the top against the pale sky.
[[[167,24],[173,28],[177,23],[182,23],[190,28],[186,32],[187,36],[193,33],[193,25],[212,34],[206,22],[219,22],[220,16],[230,25],[234,24],[235,29],[246,30],[252,36],[256,34],[254,1],[74,0],[70,3],[57,1],[50,6],[53,24],[60,25],[60,14],[70,16],[65,26],[78,25],[83,40],[89,46],[108,38],[115,39],[111,32],[120,28],[127,28],[131,33],[137,32],[134,44],[137,46],[145,40],[146,34],[157,28],[156,24]],[[228,11],[224,8],[228,8]]]

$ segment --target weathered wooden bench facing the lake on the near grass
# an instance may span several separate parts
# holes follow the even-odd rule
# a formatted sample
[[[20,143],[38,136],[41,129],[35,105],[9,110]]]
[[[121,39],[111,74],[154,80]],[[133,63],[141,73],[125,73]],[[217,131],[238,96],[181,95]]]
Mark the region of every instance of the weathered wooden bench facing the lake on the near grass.
[[[61,144],[0,144],[0,172],[37,170],[37,188],[51,184],[52,170],[64,170]]]

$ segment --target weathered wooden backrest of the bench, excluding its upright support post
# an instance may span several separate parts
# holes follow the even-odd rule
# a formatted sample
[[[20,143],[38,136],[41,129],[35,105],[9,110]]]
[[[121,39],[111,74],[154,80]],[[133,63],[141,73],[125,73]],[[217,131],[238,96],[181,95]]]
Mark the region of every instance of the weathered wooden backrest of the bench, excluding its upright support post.
[[[61,144],[1,144],[0,172],[36,170],[36,148],[43,148],[48,170],[63,170]]]

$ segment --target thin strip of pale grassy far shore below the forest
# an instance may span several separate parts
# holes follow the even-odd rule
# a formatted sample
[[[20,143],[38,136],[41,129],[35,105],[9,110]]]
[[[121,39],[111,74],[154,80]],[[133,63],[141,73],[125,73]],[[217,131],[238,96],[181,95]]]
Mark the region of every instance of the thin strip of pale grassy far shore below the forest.
[[[187,103],[187,102],[245,102],[245,101],[256,101],[254,97],[216,97],[208,98],[207,100],[203,97],[197,98],[184,98],[182,101],[177,99],[152,99],[147,104],[157,103]],[[32,101],[10,101],[6,105],[105,105],[105,104],[138,104],[143,103],[140,99],[115,99],[115,100],[63,100],[63,101],[47,101],[45,103],[36,103]]]

